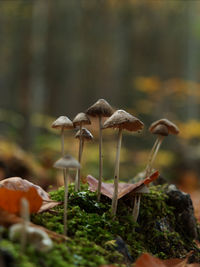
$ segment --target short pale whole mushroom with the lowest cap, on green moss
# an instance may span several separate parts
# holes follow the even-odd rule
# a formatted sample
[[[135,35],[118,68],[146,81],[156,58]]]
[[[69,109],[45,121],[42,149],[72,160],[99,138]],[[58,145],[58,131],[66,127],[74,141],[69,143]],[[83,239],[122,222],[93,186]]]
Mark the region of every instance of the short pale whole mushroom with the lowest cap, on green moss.
[[[64,235],[67,235],[67,200],[68,200],[68,171],[69,169],[80,169],[80,163],[70,155],[65,155],[54,163],[54,167],[63,169],[66,173],[64,177]]]

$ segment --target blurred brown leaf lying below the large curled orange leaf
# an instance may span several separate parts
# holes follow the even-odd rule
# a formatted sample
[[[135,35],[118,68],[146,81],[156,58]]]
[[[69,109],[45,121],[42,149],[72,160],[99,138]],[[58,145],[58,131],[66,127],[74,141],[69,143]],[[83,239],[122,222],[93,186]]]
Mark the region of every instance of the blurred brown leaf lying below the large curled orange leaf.
[[[23,219],[16,216],[15,214],[12,214],[12,213],[9,213],[5,210],[0,209],[0,225],[2,225],[4,227],[10,227],[13,224],[21,223],[22,221],[23,221]],[[63,241],[66,241],[69,239],[68,237],[66,237],[64,235],[57,234],[56,232],[50,231],[45,227],[36,225],[34,223],[31,223],[31,222],[29,224],[30,224],[30,226],[33,226],[33,227],[36,227],[36,228],[39,228],[39,229],[45,231],[49,235],[49,237],[51,239],[53,239],[55,242],[63,242]]]

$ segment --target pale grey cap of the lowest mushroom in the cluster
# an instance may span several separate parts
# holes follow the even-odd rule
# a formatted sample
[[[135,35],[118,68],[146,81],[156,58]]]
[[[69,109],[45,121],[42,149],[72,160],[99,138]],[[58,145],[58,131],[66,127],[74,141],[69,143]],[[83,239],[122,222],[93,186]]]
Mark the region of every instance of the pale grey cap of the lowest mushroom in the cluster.
[[[80,163],[70,155],[65,155],[57,160],[54,165],[57,169],[80,169]]]

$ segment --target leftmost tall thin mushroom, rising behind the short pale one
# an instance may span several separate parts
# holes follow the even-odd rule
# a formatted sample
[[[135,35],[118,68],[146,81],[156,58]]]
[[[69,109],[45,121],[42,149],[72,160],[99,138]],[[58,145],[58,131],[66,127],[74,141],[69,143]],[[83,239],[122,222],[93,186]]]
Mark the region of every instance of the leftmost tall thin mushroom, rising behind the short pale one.
[[[66,117],[66,116],[60,116],[58,117],[51,125],[52,128],[60,129],[61,130],[61,155],[64,157],[65,149],[64,149],[64,130],[65,129],[72,129],[74,128],[74,125],[72,121]],[[64,181],[66,180],[66,171],[63,169],[63,177]]]

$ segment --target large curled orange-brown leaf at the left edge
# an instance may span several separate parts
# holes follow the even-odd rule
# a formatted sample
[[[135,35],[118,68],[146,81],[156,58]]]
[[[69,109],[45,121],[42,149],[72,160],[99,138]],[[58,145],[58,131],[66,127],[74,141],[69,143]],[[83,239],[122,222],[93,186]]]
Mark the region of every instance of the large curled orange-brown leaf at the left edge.
[[[40,213],[60,204],[60,202],[52,201],[46,191],[28,180],[11,177],[0,181],[1,208],[17,214],[22,197],[27,198],[29,201],[30,212]]]

